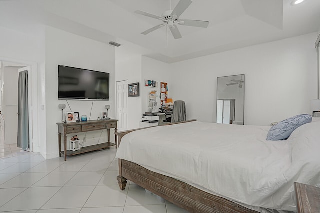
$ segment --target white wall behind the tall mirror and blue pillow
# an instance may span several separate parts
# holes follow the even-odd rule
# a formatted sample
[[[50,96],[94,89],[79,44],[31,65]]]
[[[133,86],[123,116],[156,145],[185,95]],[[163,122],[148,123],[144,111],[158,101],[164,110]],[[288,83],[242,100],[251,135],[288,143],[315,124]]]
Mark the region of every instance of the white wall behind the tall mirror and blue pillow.
[[[245,74],[245,124],[269,125],[310,113],[317,95],[317,33],[177,62],[171,94],[185,100],[187,118],[216,120],[216,78]]]

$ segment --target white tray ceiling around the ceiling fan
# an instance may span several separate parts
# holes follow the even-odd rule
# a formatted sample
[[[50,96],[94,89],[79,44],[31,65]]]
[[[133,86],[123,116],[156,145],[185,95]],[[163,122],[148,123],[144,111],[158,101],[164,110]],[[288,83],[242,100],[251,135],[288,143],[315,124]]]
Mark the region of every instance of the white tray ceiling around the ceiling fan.
[[[179,0],[171,0],[173,9]],[[146,56],[176,62],[287,37],[320,31],[320,0],[193,0],[182,19],[210,21],[208,28],[178,26],[181,39],[166,27],[140,34],[161,21],[170,0],[0,0],[0,25],[34,32],[46,24],[102,42],[140,46]],[[315,42],[315,41],[314,41]]]

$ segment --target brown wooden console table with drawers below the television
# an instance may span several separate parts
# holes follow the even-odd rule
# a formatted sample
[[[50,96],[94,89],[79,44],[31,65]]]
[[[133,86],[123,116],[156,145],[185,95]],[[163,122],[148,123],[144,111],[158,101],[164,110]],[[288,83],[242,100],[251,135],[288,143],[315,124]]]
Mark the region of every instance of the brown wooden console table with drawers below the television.
[[[114,132],[117,132],[117,121],[115,119],[109,120],[89,120],[86,122],[75,122],[75,123],[56,123],[58,125],[58,139],[59,139],[59,155],[64,156],[64,161],[66,161],[66,156],[72,156],[76,154],[82,154],[89,151],[94,151],[102,148],[107,148],[110,146],[114,146],[117,148],[117,136],[115,135],[115,144],[110,142],[110,128],[114,128]],[[87,132],[87,131],[95,131],[107,129],[108,132],[108,141],[96,145],[90,145],[81,148],[81,150],[77,151],[69,151],[66,150],[66,135],[67,134],[74,134],[80,132]],[[61,135],[63,134],[63,143],[64,143],[64,151],[61,151]]]

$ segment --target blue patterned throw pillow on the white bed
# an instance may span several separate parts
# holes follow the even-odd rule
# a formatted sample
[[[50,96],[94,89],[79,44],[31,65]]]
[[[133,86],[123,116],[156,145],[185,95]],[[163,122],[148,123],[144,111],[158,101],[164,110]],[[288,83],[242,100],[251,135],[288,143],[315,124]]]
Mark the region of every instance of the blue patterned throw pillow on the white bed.
[[[283,120],[272,126],[266,136],[266,140],[284,140],[291,133],[303,124],[310,123],[312,116],[309,114],[300,114]]]

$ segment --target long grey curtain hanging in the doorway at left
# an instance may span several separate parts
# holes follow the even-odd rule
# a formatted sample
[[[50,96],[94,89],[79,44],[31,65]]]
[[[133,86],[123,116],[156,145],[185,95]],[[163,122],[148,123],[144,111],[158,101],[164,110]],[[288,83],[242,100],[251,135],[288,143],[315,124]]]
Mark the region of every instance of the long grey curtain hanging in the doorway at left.
[[[19,72],[18,81],[18,139],[17,147],[27,151],[29,141],[29,113],[28,113],[28,71]]]

